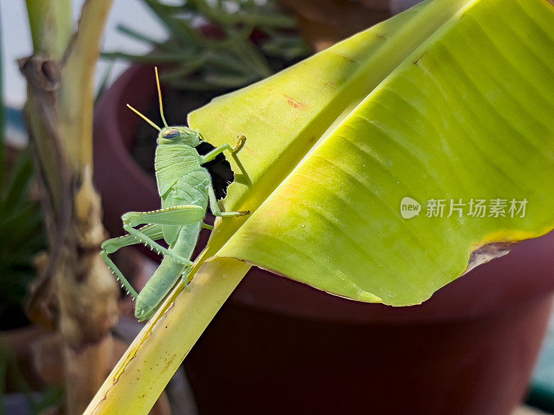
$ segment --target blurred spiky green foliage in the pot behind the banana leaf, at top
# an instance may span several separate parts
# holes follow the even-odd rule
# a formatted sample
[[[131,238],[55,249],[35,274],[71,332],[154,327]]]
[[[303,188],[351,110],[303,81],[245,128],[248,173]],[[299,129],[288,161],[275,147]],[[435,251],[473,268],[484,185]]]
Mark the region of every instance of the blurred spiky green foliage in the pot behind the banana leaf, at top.
[[[168,29],[170,39],[157,42],[128,26],[119,29],[154,48],[150,55],[104,53],[110,59],[168,64],[162,82],[181,89],[226,90],[262,79],[310,50],[296,33],[296,21],[274,0],[188,0],[168,6],[143,0]],[[256,43],[253,41],[256,39]]]

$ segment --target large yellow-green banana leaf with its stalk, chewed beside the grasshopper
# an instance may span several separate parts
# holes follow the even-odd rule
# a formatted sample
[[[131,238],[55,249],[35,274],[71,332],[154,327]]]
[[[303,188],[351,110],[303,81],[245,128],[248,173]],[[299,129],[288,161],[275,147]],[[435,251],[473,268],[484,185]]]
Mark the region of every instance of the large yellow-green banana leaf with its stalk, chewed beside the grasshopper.
[[[425,1],[190,113],[247,137],[224,207],[253,213],[216,221],[87,413],[147,413],[250,266],[409,306],[552,230],[553,28],[546,0]]]

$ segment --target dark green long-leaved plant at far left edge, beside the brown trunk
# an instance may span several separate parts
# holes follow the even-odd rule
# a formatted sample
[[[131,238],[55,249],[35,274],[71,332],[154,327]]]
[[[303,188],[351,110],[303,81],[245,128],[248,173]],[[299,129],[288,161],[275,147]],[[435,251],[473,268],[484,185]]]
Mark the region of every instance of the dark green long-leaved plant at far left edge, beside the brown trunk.
[[[3,67],[0,54],[0,86]],[[35,258],[46,248],[43,217],[33,176],[33,158],[27,147],[6,142],[6,120],[17,124],[17,112],[4,107],[0,88],[0,413],[19,414],[25,408],[39,415],[62,400],[63,389],[46,387],[36,391],[28,380],[28,364],[21,362],[26,350],[14,347],[15,329],[26,326],[24,313],[28,286],[36,278]],[[22,127],[20,125],[19,127]],[[21,367],[23,366],[23,367]],[[27,367],[26,367],[27,366]]]

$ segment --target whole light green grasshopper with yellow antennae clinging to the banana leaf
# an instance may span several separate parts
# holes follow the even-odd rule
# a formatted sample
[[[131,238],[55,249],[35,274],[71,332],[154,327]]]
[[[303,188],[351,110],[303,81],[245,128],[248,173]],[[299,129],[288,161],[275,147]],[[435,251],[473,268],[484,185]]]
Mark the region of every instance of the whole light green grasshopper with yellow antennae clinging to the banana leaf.
[[[205,156],[201,156],[195,149],[204,141],[198,131],[193,131],[188,127],[168,127],[166,118],[163,116],[157,68],[155,72],[160,115],[165,127],[158,127],[129,104],[127,107],[159,131],[154,167],[158,193],[161,197],[161,209],[152,212],[123,214],[121,216],[123,229],[128,234],[108,239],[102,243],[100,252],[100,256],[116,275],[121,286],[127,290],[127,294],[131,294],[133,299],[136,299],[135,316],[139,321],[146,320],[154,314],[179,277],[184,277],[186,284],[186,275],[193,265],[190,257],[193,255],[200,230],[201,228],[213,229],[204,223],[208,202],[215,216],[250,214],[249,211],[222,212],[217,205],[211,176],[208,170],[202,167],[204,163],[208,163],[218,154],[228,150],[243,177],[249,183],[248,174],[236,155],[244,146],[246,138],[240,136],[235,147],[231,147],[229,144],[222,145]],[[143,226],[137,229],[136,226],[139,225]],[[168,248],[155,242],[160,239],[166,241]],[[108,255],[124,246],[139,243],[144,243],[145,246],[150,246],[150,249],[157,250],[163,255],[163,259],[141,293],[137,294]]]

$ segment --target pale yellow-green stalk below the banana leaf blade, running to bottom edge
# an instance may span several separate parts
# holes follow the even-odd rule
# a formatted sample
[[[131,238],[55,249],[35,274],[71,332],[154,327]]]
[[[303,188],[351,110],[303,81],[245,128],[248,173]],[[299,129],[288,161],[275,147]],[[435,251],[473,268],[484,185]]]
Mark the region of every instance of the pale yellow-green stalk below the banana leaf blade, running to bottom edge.
[[[250,266],[215,258],[181,283],[135,338],[83,415],[148,414]],[[148,341],[147,341],[148,340]]]

